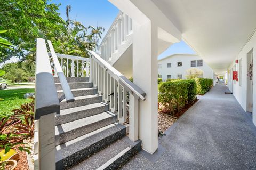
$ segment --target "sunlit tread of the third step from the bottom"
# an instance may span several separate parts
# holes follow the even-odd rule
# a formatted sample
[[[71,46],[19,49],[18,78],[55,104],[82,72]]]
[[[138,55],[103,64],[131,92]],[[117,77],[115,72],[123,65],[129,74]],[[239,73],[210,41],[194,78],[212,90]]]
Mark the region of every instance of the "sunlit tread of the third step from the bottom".
[[[95,122],[100,122],[103,119],[107,119],[110,117],[116,116],[115,114],[113,114],[112,112],[108,111],[108,112],[102,112],[100,114],[97,115],[93,115],[93,116],[89,116],[89,117],[85,117],[82,119],[78,119],[75,120],[73,122],[68,122],[65,124],[61,124],[61,125],[57,125],[55,126],[55,135],[59,135],[61,133],[66,133],[69,131],[73,131],[76,128],[80,128],[86,125],[90,125],[92,123]]]

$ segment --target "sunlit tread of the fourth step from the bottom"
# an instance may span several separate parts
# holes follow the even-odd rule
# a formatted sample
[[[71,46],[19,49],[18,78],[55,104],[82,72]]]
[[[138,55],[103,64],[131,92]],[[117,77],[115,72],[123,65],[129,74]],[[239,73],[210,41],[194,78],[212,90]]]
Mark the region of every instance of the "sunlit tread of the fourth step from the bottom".
[[[100,103],[87,104],[84,106],[78,106],[78,107],[74,107],[74,108],[63,109],[63,110],[60,110],[60,114],[57,114],[56,116],[74,114],[75,112],[78,112],[78,111],[89,110],[89,109],[98,108],[98,107],[102,107],[102,106],[106,106],[106,105],[107,105],[107,103],[100,102]]]

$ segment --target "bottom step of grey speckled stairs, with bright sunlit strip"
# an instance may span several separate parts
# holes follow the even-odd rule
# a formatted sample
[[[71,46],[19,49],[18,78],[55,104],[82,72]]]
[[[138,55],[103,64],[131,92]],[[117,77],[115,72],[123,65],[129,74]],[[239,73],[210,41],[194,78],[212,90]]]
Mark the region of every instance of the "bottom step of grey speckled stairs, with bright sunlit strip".
[[[132,142],[129,137],[125,136],[71,167],[70,170],[119,169],[140,150],[141,140]]]

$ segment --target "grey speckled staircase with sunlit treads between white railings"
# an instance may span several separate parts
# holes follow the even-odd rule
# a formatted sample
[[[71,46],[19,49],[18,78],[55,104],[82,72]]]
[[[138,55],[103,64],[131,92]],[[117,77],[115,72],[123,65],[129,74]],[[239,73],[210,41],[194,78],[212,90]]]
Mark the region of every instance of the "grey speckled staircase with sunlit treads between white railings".
[[[117,169],[141,149],[87,77],[66,78],[75,101],[60,102],[55,116],[56,169]],[[58,96],[63,95],[54,78]]]

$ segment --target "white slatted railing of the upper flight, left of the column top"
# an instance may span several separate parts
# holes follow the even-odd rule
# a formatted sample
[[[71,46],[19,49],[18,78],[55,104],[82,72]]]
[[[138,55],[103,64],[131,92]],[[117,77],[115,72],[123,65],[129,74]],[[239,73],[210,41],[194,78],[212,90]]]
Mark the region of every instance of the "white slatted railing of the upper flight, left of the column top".
[[[132,43],[132,19],[123,12],[119,12],[107,34],[99,45],[101,58],[106,61],[120,57]],[[119,56],[115,54],[119,52]]]

